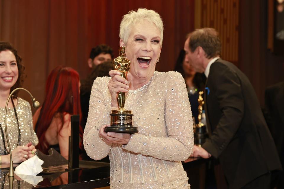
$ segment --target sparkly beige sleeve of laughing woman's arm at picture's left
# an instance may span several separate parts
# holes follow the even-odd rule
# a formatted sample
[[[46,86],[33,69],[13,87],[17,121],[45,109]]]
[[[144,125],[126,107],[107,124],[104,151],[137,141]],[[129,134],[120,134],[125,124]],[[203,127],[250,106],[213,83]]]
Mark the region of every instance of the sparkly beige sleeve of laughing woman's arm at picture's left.
[[[86,127],[84,130],[84,148],[92,159],[100,160],[109,154],[111,144],[107,144],[99,136],[99,129],[101,126],[109,124],[109,110],[110,99],[104,100],[105,97],[110,96],[109,91],[106,90],[103,81],[108,81],[109,77],[98,77],[93,84],[90,96],[90,106]]]

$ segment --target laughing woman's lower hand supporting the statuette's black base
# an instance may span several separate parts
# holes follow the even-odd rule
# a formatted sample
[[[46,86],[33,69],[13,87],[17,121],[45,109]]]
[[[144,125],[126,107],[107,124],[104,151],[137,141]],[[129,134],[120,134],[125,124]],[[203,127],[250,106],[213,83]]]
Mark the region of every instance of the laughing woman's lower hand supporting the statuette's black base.
[[[110,125],[104,125],[100,128],[99,134],[106,141],[106,143],[127,144],[130,140],[131,134],[128,133],[114,133],[104,132],[104,128],[110,127]]]

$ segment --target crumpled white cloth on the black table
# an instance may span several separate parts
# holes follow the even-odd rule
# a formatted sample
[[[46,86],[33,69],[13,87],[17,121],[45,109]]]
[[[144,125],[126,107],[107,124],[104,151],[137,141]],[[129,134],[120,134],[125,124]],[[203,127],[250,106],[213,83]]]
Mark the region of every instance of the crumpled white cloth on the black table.
[[[41,165],[43,161],[39,159],[37,156],[34,156],[24,162],[22,162],[18,167],[15,169],[15,173],[17,175],[37,175],[38,173],[42,172]]]

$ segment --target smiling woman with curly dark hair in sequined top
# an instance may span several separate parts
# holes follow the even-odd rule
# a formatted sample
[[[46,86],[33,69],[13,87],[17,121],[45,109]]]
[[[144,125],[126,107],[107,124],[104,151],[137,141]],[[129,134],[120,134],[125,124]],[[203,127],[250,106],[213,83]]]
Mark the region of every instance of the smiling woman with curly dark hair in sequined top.
[[[4,113],[6,101],[12,90],[21,87],[24,67],[22,59],[9,43],[0,42],[0,155],[1,163],[10,162],[5,135]],[[9,133],[12,158],[20,163],[34,156],[38,138],[33,131],[33,115],[30,104],[15,92],[7,109],[7,131]]]

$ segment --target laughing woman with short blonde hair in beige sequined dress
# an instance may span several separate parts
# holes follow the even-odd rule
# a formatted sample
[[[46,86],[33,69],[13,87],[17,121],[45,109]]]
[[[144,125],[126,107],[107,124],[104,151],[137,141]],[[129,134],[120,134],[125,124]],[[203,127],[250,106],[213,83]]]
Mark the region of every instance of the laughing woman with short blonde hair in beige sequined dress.
[[[93,84],[84,146],[95,160],[109,155],[111,188],[190,188],[181,164],[193,148],[190,103],[180,73],[155,71],[162,40],[159,14],[130,11],[120,24],[120,46],[131,61],[128,81],[112,70]],[[139,133],[104,132],[120,91]]]

